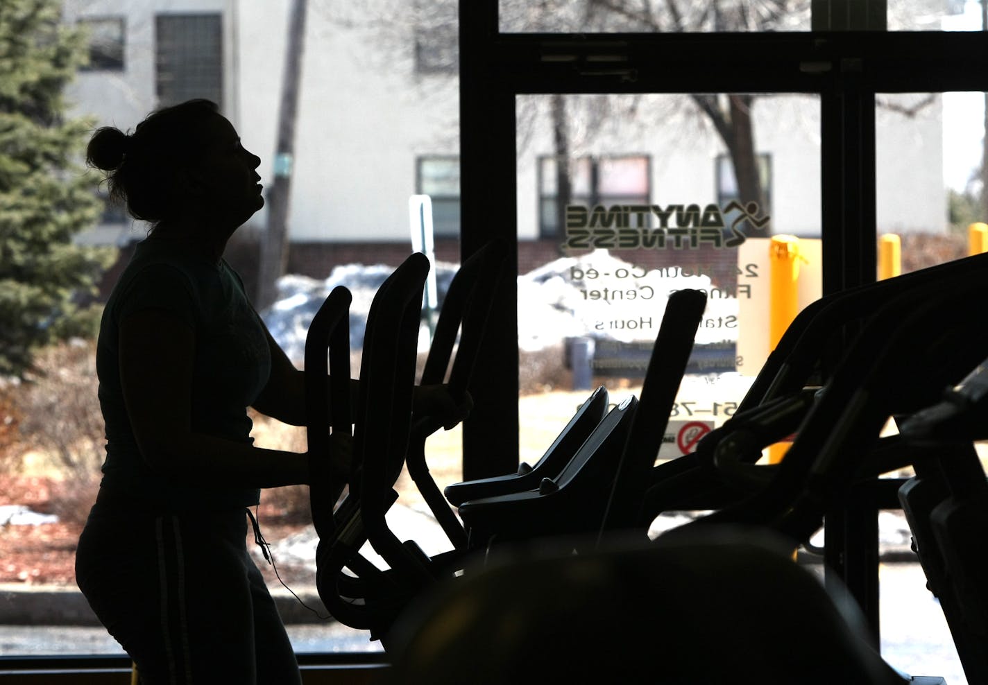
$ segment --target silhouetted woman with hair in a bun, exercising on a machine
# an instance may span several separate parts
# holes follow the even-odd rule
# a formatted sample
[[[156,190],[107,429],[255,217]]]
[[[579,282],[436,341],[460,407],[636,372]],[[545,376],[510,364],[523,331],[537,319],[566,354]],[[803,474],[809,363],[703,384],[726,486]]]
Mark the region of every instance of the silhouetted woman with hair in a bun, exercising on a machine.
[[[246,410],[301,425],[303,377],[223,260],[264,205],[260,159],[198,100],[129,135],[99,129],[88,161],[153,230],[100,327],[107,457],[79,540],[79,587],[144,682],[299,683],[246,549],[246,507],[259,489],[308,483],[309,458],[254,447]],[[348,457],[331,464],[344,473]]]

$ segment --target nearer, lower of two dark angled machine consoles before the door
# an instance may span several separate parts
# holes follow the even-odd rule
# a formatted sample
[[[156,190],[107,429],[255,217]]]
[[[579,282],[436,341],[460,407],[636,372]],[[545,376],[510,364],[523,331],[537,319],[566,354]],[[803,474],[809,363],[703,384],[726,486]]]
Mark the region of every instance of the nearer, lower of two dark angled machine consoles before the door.
[[[598,423],[590,437],[555,479],[537,490],[464,501],[459,516],[471,547],[492,539],[530,540],[596,533],[607,510],[611,487],[638,406],[629,396]]]

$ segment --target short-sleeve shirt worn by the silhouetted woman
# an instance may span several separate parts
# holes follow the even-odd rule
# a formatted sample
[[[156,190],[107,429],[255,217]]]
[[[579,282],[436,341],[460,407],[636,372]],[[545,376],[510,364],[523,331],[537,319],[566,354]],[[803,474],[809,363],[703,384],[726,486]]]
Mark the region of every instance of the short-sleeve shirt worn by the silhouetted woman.
[[[149,238],[137,245],[124,268],[100,325],[96,370],[107,437],[101,487],[112,495],[179,511],[256,504],[257,489],[168,480],[141,455],[124,404],[119,340],[121,322],[149,309],[164,310],[195,332],[192,430],[253,443],[247,408],[268,382],[271,351],[239,275],[223,260],[216,263],[173,241]],[[190,480],[196,482],[195,476]]]

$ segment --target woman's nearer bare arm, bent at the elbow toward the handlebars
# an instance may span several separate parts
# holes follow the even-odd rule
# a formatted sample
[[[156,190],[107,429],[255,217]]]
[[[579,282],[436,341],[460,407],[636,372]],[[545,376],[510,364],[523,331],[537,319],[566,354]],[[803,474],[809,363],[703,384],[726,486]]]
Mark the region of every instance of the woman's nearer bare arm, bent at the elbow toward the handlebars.
[[[186,483],[248,488],[308,483],[304,454],[193,432],[195,351],[195,332],[165,310],[135,312],[121,322],[124,403],[137,446],[151,468]]]

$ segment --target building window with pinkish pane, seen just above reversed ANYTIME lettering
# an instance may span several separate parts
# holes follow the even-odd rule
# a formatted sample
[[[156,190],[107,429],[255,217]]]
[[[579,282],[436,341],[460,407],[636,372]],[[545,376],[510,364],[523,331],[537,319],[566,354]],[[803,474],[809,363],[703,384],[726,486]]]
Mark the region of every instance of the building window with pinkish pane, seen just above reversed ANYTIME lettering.
[[[651,164],[647,155],[580,157],[571,161],[570,204],[648,204]],[[560,235],[557,160],[538,158],[538,234]]]

